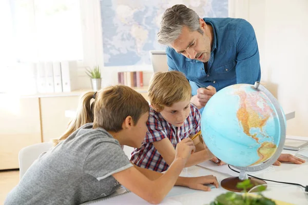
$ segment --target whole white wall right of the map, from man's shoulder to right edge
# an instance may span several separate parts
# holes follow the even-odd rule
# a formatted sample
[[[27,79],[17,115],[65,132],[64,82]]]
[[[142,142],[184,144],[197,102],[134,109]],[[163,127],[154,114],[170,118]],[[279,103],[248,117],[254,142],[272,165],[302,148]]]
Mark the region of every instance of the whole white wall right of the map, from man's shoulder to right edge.
[[[255,28],[262,77],[285,112],[296,111],[287,121],[287,134],[308,136],[308,1],[230,1],[233,17],[247,19]],[[241,6],[239,6],[241,5]]]

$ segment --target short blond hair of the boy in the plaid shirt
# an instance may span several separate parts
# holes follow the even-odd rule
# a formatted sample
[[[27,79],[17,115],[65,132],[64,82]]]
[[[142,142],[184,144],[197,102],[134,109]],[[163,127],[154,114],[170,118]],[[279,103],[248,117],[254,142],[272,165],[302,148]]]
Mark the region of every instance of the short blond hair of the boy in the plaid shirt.
[[[185,75],[179,71],[158,72],[150,80],[149,101],[153,109],[161,112],[179,101],[191,98],[191,87]]]

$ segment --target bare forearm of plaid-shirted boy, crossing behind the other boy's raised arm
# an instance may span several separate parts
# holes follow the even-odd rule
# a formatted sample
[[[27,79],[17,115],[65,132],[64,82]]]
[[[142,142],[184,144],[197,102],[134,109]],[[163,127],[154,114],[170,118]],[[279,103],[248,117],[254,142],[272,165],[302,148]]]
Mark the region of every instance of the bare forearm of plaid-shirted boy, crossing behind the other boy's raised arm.
[[[168,138],[164,138],[160,141],[155,141],[152,143],[157,149],[157,151],[162,155],[167,164],[171,165],[172,161],[175,159],[176,151],[175,148],[172,146],[170,140]],[[209,160],[213,157],[214,155],[208,149],[201,150],[190,155],[189,159],[185,164],[185,167],[197,165],[198,163]]]

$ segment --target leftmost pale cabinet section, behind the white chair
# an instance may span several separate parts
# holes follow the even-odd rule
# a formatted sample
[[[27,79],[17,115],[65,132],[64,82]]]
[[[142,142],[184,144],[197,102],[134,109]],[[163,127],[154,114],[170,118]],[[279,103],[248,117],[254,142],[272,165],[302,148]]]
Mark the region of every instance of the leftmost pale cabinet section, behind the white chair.
[[[37,97],[0,96],[0,170],[18,168],[18,152],[41,142]]]

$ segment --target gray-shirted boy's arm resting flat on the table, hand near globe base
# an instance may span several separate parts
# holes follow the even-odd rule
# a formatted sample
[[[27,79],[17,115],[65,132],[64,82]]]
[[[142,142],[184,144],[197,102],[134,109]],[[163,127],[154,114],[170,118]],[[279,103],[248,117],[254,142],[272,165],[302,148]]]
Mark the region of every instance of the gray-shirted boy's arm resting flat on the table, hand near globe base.
[[[159,177],[163,175],[163,173],[141,168],[134,164],[133,166],[134,168],[136,168],[139,172],[141,172],[143,175],[145,175],[150,180],[158,179]],[[175,183],[175,186],[182,186],[182,187],[188,187],[190,189],[210,191],[210,188],[205,186],[210,183],[215,185],[216,188],[218,188],[219,186],[217,178],[213,175],[200,176],[200,177],[181,177],[179,176],[178,180]]]

